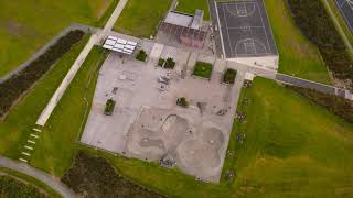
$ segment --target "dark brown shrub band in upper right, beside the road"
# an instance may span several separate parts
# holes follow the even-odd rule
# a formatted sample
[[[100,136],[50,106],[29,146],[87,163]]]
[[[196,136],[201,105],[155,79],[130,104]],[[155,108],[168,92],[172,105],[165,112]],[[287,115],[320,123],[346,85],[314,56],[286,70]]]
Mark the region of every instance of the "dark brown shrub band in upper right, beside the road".
[[[321,0],[288,0],[288,3],[296,24],[319,47],[333,76],[352,81],[353,62]]]

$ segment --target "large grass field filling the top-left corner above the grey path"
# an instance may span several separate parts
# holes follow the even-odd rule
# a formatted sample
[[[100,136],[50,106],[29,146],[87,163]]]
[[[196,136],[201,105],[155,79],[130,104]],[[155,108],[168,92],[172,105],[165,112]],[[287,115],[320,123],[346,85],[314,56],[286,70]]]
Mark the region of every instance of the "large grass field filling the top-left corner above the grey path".
[[[0,2],[0,77],[15,69],[71,23],[99,19],[115,0],[14,0]],[[21,13],[21,14],[20,14]]]

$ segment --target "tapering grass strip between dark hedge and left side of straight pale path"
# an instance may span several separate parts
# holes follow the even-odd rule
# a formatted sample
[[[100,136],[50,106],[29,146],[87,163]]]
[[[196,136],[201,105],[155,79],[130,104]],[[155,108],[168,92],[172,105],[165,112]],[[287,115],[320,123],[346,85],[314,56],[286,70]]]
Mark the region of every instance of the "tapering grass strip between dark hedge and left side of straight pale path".
[[[0,123],[0,154],[18,158],[36,119],[61,84],[89,36],[73,46]]]

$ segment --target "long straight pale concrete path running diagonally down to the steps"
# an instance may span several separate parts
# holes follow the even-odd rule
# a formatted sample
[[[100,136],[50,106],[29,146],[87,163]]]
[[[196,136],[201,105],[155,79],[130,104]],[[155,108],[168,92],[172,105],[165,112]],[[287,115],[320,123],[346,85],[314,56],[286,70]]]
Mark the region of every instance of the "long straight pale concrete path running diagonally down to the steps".
[[[90,52],[90,50],[93,48],[94,45],[99,44],[100,41],[106,37],[106,35],[113,29],[117,19],[119,18],[119,15],[120,15],[120,13],[127,2],[128,2],[128,0],[120,0],[118,6],[116,7],[114,12],[111,13],[108,22],[106,23],[104,30],[98,31],[96,34],[93,34],[90,36],[88,43],[86,44],[84,50],[81,52],[81,54],[76,58],[75,63],[73,64],[73,66],[68,70],[68,73],[66,74],[65,78],[63,79],[63,81],[61,82],[58,88],[56,89],[52,99],[50,100],[50,102],[47,103],[47,106],[45,107],[43,112],[41,113],[40,118],[38,119],[38,121],[36,121],[38,125],[43,127],[46,123],[46,121],[51,117],[52,112],[54,111],[56,105],[58,103],[58,101],[63,97],[64,92],[66,91],[66,88],[68,87],[71,81],[74,79],[76,73],[78,72],[82,64],[85,62],[86,57],[88,56],[88,53]]]

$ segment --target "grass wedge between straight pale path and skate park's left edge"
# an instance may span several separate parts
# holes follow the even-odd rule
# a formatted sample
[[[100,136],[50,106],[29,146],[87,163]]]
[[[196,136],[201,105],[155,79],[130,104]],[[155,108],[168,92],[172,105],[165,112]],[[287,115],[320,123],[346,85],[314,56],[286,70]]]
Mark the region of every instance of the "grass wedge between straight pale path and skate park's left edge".
[[[73,82],[43,129],[32,154],[31,164],[52,175],[61,176],[69,167],[74,144],[88,117],[99,68],[108,55],[99,46],[88,54]],[[43,157],[45,156],[45,157]]]

